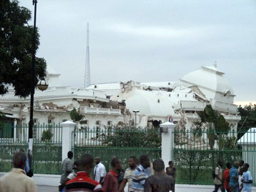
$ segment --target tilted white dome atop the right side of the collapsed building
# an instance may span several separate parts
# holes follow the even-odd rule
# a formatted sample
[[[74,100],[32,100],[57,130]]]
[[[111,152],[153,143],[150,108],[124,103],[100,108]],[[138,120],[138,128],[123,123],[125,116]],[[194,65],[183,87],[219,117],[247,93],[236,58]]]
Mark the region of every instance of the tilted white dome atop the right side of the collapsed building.
[[[223,77],[225,73],[217,66],[201,67],[183,76],[180,81],[212,91],[220,91],[233,95],[231,84]]]

